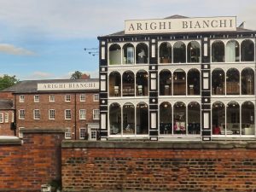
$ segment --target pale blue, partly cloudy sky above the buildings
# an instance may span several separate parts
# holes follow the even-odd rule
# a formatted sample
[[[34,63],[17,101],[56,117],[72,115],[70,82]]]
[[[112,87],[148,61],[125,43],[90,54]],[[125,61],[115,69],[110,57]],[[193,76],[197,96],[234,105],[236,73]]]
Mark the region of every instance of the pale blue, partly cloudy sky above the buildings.
[[[236,16],[256,30],[255,0],[0,0],[0,75],[69,79],[98,76],[98,36],[124,30],[125,20]]]

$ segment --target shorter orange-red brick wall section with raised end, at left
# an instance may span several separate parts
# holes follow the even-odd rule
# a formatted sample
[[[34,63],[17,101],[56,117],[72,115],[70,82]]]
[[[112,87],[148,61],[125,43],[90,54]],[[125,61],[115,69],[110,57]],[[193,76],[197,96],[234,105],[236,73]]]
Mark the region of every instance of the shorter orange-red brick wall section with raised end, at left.
[[[61,178],[60,130],[25,130],[19,139],[0,140],[0,191],[40,191]]]

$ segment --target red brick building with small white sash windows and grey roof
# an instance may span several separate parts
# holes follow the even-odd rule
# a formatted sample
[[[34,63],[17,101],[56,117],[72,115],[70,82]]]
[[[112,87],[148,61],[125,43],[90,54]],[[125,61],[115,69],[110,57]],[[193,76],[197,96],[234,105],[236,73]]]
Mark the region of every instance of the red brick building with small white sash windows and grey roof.
[[[26,80],[3,90],[2,95],[9,92],[13,94],[17,136],[22,137],[24,128],[65,128],[67,139],[96,139],[98,79]],[[0,134],[13,135],[10,127]]]

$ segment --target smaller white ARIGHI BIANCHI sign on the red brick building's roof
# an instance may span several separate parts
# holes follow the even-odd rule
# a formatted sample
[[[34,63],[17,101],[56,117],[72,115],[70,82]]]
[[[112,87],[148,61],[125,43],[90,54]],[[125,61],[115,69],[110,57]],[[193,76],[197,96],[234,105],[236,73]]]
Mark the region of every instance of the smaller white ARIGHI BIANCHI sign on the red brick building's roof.
[[[99,82],[38,84],[38,90],[99,90]]]

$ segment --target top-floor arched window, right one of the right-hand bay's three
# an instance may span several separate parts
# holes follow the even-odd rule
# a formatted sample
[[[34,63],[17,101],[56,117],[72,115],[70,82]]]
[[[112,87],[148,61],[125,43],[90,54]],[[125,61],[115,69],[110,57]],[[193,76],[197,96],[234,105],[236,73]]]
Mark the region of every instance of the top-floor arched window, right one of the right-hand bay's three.
[[[241,61],[254,61],[254,43],[252,40],[241,42]]]

